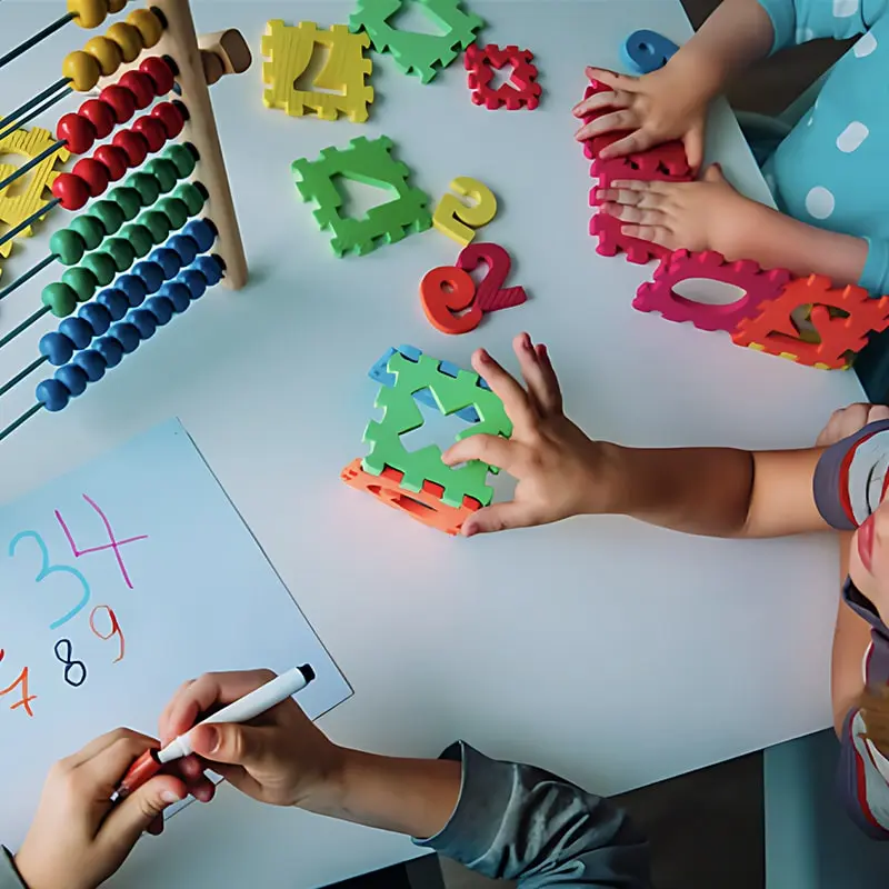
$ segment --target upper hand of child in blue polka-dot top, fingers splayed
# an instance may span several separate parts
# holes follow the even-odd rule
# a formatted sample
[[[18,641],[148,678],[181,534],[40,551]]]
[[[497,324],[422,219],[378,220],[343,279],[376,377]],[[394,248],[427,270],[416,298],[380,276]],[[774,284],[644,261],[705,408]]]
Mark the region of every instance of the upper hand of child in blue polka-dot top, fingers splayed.
[[[659,71],[639,78],[600,68],[587,68],[587,77],[611,87],[613,92],[600,92],[583,100],[575,107],[575,117],[582,118],[606,108],[613,112],[581,127],[576,136],[578,141],[626,130],[623,139],[601,152],[605,160],[648,151],[661,142],[680,139],[689,167],[700,168],[709,97],[697,89],[696,78],[677,64],[676,59]]]

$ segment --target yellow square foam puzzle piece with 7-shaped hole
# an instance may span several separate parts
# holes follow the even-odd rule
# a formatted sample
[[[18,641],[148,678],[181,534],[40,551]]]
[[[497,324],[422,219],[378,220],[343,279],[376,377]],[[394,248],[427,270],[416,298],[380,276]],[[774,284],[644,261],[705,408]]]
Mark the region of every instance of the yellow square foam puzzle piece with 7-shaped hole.
[[[281,108],[291,117],[316,113],[322,120],[336,120],[347,114],[352,123],[368,119],[368,104],[373,101],[373,88],[367,78],[373,69],[364,50],[370,46],[366,33],[353,34],[344,24],[329,31],[313,21],[302,21],[296,28],[280,19],[270,21],[262,38],[262,101],[267,108]],[[319,49],[328,50],[328,59],[313,86],[314,92],[297,89],[297,79],[306,72]]]

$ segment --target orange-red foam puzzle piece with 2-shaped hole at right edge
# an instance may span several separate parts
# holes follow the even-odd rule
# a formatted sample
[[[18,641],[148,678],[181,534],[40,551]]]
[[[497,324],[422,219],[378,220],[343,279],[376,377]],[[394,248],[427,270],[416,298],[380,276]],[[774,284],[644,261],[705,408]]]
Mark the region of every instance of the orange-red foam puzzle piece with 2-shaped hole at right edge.
[[[803,339],[793,321],[802,307],[816,336]],[[872,299],[862,287],[837,287],[822,274],[796,278],[760,313],[739,322],[737,346],[821,370],[847,370],[868,334],[889,328],[889,297]]]

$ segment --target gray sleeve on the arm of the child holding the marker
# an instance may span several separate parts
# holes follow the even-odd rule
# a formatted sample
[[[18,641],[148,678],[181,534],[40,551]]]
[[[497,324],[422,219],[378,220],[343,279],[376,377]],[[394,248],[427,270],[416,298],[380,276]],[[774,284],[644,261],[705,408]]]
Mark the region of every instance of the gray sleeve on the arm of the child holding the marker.
[[[650,888],[648,843],[607,800],[463,742],[442,758],[462,761],[460,799],[441,832],[418,846],[522,889]]]

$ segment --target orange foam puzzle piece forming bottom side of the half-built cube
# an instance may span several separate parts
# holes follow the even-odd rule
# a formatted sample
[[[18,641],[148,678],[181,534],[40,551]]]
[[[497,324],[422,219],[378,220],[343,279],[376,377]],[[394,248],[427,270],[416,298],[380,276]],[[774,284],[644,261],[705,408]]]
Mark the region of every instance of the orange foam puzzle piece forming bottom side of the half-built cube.
[[[465,497],[459,507],[448,506],[441,499],[444,489],[432,481],[424,481],[419,491],[406,491],[401,487],[403,475],[386,467],[379,476],[372,476],[361,468],[359,457],[342,470],[340,478],[350,488],[372,495],[381,503],[451,537],[460,533],[463,522],[481,508],[481,503],[471,497]]]

